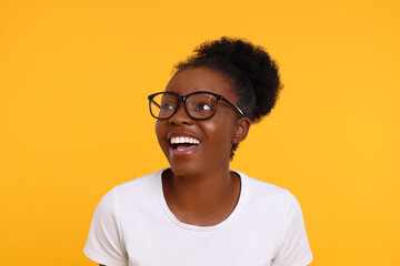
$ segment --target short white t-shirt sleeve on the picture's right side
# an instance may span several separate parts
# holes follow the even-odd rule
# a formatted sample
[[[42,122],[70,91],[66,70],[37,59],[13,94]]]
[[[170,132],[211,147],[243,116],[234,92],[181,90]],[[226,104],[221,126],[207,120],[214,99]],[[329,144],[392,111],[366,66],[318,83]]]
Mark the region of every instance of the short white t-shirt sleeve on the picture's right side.
[[[288,191],[282,236],[281,246],[271,266],[306,266],[311,263],[312,254],[300,204]]]

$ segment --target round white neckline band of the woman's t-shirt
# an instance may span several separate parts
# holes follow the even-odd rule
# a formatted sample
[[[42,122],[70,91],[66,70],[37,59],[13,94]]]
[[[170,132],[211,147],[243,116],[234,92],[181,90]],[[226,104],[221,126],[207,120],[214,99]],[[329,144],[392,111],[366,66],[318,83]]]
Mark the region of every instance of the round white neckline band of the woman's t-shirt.
[[[240,177],[240,194],[239,194],[239,201],[238,204],[236,205],[234,209],[232,211],[232,213],[228,216],[228,218],[226,218],[224,221],[222,221],[221,223],[218,223],[216,225],[210,225],[210,226],[200,226],[200,225],[192,225],[192,224],[186,224],[180,222],[174,214],[171,212],[171,209],[168,207],[168,204],[166,202],[166,197],[163,195],[163,190],[162,190],[162,173],[168,170],[168,168],[163,168],[160,170],[157,173],[157,185],[158,185],[158,190],[157,190],[157,194],[158,194],[158,198],[159,198],[159,203],[161,205],[161,208],[163,211],[163,213],[167,215],[167,217],[177,226],[188,229],[188,231],[200,231],[200,232],[204,232],[204,231],[218,231],[223,228],[224,226],[227,226],[227,224],[231,223],[233,219],[236,219],[236,217],[238,216],[238,214],[240,213],[244,202],[246,202],[246,197],[247,197],[247,176],[238,171],[232,171],[239,175]]]

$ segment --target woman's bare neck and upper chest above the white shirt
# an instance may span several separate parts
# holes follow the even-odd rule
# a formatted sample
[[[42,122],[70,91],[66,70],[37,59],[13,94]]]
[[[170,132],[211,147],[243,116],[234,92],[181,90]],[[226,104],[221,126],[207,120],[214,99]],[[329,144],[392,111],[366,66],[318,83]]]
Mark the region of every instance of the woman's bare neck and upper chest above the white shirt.
[[[162,183],[171,212],[188,224],[222,222],[234,209],[240,194],[240,178],[229,166],[190,176],[178,176],[170,170]]]

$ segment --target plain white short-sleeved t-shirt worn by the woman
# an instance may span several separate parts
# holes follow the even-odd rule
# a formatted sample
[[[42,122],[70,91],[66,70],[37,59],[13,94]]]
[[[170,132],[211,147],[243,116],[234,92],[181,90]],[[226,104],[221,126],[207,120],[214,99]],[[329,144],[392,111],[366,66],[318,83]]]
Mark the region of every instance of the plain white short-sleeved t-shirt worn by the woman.
[[[304,266],[312,260],[300,205],[287,190],[241,178],[239,202],[213,226],[169,209],[163,171],[116,186],[100,201],[84,254],[107,266]]]

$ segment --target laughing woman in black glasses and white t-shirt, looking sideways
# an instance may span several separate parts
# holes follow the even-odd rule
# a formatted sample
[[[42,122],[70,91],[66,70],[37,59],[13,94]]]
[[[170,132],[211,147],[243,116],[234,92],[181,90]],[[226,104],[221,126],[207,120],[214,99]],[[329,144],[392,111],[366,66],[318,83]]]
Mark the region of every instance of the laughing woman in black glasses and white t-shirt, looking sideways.
[[[294,196],[229,168],[251,123],[274,105],[274,62],[261,48],[222,38],[176,70],[166,91],[149,96],[170,167],[104,195],[86,255],[108,266],[308,265]]]

